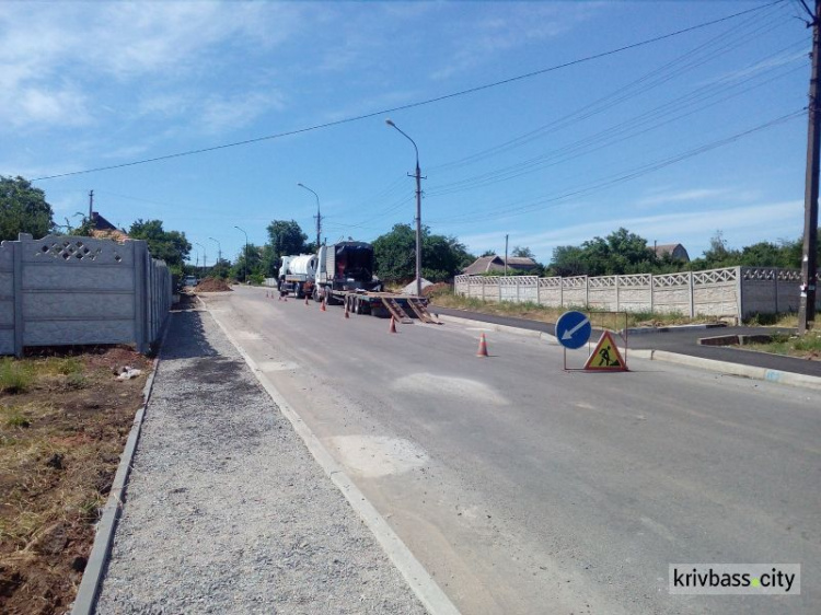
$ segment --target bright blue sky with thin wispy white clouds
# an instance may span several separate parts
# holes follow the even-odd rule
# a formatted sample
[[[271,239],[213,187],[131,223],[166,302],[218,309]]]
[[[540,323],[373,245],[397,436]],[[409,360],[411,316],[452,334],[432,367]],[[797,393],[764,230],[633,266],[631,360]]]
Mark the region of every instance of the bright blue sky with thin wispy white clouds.
[[[719,18],[745,15],[605,53]],[[0,174],[58,223],[160,219],[233,258],[293,219],[370,241],[415,217],[547,263],[625,227],[691,257],[802,233],[811,32],[797,0],[2,2]],[[605,54],[589,61],[577,62]],[[544,71],[575,62],[565,68]],[[531,72],[533,77],[405,108]],[[774,123],[768,125],[770,123]],[[768,126],[767,126],[768,125]],[[198,257],[203,247],[195,245]],[[192,253],[194,260],[194,253]]]

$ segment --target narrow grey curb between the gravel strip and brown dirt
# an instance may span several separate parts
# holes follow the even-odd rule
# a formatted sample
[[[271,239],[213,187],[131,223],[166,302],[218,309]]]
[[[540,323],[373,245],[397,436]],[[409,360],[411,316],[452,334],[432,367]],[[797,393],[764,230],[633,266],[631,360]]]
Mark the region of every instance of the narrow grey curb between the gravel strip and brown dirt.
[[[169,320],[165,322],[160,348],[165,345],[165,336],[169,333],[169,324],[172,317],[173,315],[170,314]],[[80,588],[77,590],[77,597],[71,607],[71,615],[92,615],[94,613],[97,593],[103,583],[105,566],[108,562],[108,556],[111,555],[114,532],[117,530],[117,522],[123,512],[123,495],[125,494],[126,484],[128,483],[128,475],[131,472],[134,453],[137,450],[137,443],[140,439],[142,419],[146,416],[146,407],[151,398],[151,390],[154,386],[154,376],[157,375],[157,370],[159,368],[160,353],[158,351],[157,358],[154,359],[154,369],[151,370],[151,374],[146,381],[146,386],[142,387],[142,406],[140,406],[134,417],[131,430],[128,432],[128,440],[126,440],[126,446],[123,451],[123,455],[119,457],[117,473],[114,475],[112,490],[108,492],[108,500],[103,508],[103,514],[97,523],[96,533],[94,534],[94,544],[91,547],[91,555],[89,555],[89,561],[85,565],[83,578],[80,581]]]

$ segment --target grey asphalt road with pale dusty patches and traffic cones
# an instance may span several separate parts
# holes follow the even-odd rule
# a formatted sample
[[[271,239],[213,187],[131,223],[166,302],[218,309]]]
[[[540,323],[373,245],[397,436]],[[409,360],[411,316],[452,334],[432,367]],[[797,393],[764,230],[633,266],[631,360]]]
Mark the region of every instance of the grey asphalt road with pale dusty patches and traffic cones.
[[[264,289],[205,301],[463,613],[821,612],[818,393],[568,373],[501,333],[478,359],[479,328],[393,335]],[[677,562],[798,562],[801,595],[671,596]]]

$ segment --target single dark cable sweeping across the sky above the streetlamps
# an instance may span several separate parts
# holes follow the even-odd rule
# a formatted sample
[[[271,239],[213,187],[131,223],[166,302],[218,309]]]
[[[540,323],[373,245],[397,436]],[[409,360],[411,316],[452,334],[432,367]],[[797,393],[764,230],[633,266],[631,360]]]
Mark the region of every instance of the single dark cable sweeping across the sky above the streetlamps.
[[[498,88],[500,85],[507,85],[509,83],[514,83],[517,81],[522,81],[522,80],[525,80],[525,79],[531,79],[531,78],[534,78],[534,77],[546,74],[548,72],[554,72],[554,71],[557,71],[557,70],[560,70],[560,69],[564,69],[564,68],[569,68],[569,67],[581,65],[581,63],[589,62],[589,61],[592,61],[592,60],[598,60],[598,59],[601,59],[601,58],[605,58],[608,56],[613,56],[613,55],[616,55],[616,54],[621,54],[623,51],[628,51],[631,49],[636,49],[638,47],[644,47],[646,45],[651,45],[654,43],[659,43],[660,40],[672,38],[674,36],[680,36],[682,34],[686,34],[689,32],[694,32],[694,31],[697,31],[697,30],[709,27],[712,25],[716,25],[718,23],[722,23],[722,22],[726,22],[726,21],[729,21],[729,20],[733,20],[733,19],[740,18],[742,15],[747,15],[749,13],[753,13],[755,11],[761,11],[763,9],[766,9],[768,7],[773,7],[775,4],[779,4],[782,2],[784,2],[784,0],[774,0],[773,2],[770,2],[767,4],[762,4],[761,7],[754,7],[752,9],[748,9],[745,11],[733,13],[731,15],[719,18],[719,19],[716,19],[716,20],[713,20],[713,21],[709,21],[709,22],[704,22],[704,23],[698,24],[698,25],[685,27],[685,28],[678,30],[678,31],[674,31],[674,32],[671,32],[671,33],[668,33],[668,34],[662,34],[662,35],[656,36],[654,38],[648,38],[648,39],[645,39],[645,40],[640,40],[638,43],[633,43],[631,45],[625,45],[623,47],[617,47],[617,48],[611,49],[609,51],[602,51],[600,54],[593,54],[591,56],[587,56],[587,57],[579,58],[579,59],[576,59],[576,60],[570,60],[568,62],[564,62],[564,63],[560,63],[560,65],[555,65],[555,66],[552,66],[552,67],[548,67],[548,68],[535,70],[535,71],[532,71],[532,72],[527,72],[524,74],[519,74],[517,77],[510,77],[508,79],[502,79],[500,81],[495,81],[493,83],[485,83],[483,85],[477,85],[475,88],[470,88],[467,90],[461,90],[459,92],[452,92],[450,94],[443,94],[441,96],[436,96],[433,98],[427,98],[425,101],[417,101],[415,103],[408,103],[406,105],[401,105],[401,106],[396,106],[396,107],[392,107],[392,108],[386,108],[386,109],[380,109],[380,111],[377,111],[377,112],[371,112],[371,113],[367,113],[367,114],[363,114],[363,115],[352,116],[352,117],[348,117],[348,118],[344,118],[344,119],[337,119],[335,121],[326,121],[326,123],[323,123],[323,124],[315,124],[313,126],[309,126],[309,127],[305,127],[305,128],[298,128],[296,130],[289,130],[289,131],[286,131],[286,132],[277,132],[277,134],[274,134],[274,135],[267,135],[265,137],[256,137],[256,138],[253,138],[253,139],[245,139],[245,140],[242,140],[242,141],[234,141],[232,143],[223,143],[223,144],[213,146],[213,147],[210,147],[210,148],[200,148],[200,149],[196,149],[196,150],[188,150],[188,151],[184,151],[184,152],[177,152],[177,153],[165,154],[165,155],[160,155],[160,156],[154,156],[154,158],[148,158],[148,159],[137,160],[137,161],[132,161],[132,162],[124,162],[124,163],[120,163],[120,164],[112,164],[112,165],[108,165],[108,166],[97,166],[95,169],[85,169],[85,170],[82,170],[82,171],[71,171],[71,172],[68,172],[68,173],[58,173],[58,174],[55,174],[55,175],[46,175],[46,176],[43,176],[43,177],[36,177],[36,178],[32,179],[32,182],[43,182],[43,181],[46,181],[46,179],[56,179],[56,178],[59,178],[59,177],[69,177],[69,176],[72,176],[72,175],[84,175],[84,174],[88,174],[88,173],[97,173],[97,172],[101,172],[101,171],[113,171],[115,169],[125,169],[125,167],[128,167],[128,166],[137,166],[137,165],[140,165],[140,164],[148,164],[150,162],[160,162],[160,161],[165,161],[165,160],[173,160],[173,159],[176,159],[176,158],[184,158],[184,156],[196,155],[196,154],[200,154],[200,153],[207,153],[207,152],[213,152],[213,151],[224,150],[224,149],[228,149],[228,148],[236,148],[236,147],[240,147],[240,146],[250,146],[250,144],[253,144],[253,143],[259,143],[262,141],[269,141],[269,140],[273,140],[273,139],[281,139],[284,137],[290,137],[290,136],[294,136],[294,135],[301,135],[303,132],[311,132],[311,131],[314,131],[314,130],[320,130],[322,128],[331,128],[333,126],[340,126],[340,125],[344,125],[344,124],[350,124],[352,121],[360,121],[362,119],[368,119],[368,118],[375,117],[375,116],[383,116],[383,115],[391,114],[391,113],[396,113],[396,112],[400,112],[400,111],[405,111],[405,109],[409,109],[409,108],[420,107],[420,106],[424,106],[424,105],[430,105],[430,104],[439,103],[439,102],[447,101],[447,100],[450,100],[450,98],[455,98],[455,97],[459,97],[459,96],[465,96],[467,94],[474,94],[476,92],[482,92],[484,90],[489,90],[492,88]]]

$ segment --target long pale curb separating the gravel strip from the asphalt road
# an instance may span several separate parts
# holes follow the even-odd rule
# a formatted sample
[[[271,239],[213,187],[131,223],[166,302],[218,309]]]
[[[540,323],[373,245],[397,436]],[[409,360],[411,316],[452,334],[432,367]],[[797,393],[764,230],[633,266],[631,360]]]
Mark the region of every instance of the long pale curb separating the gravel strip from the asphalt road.
[[[229,341],[233,344],[236,351],[242,356],[251,371],[263,385],[274,403],[279,406],[279,411],[290,421],[294,431],[304,442],[309,452],[313,455],[316,463],[325,472],[332,483],[342,491],[350,507],[359,514],[368,529],[373,533],[377,542],[388,555],[396,569],[402,573],[413,592],[427,608],[430,615],[460,615],[459,610],[437,584],[433,578],[428,573],[425,567],[416,559],[416,556],[407,548],[396,533],[388,524],[373,504],[368,501],[359,488],[354,484],[350,477],[345,473],[343,466],[336,463],[333,455],[322,444],[319,438],[311,431],[311,428],[302,420],[293,408],[290,407],[285,397],[277,391],[274,383],[263,373],[259,367],[240,346],[240,344],[229,333],[228,328],[219,318],[208,309],[208,305],[200,300],[200,304],[219,325],[222,333],[226,334]]]

